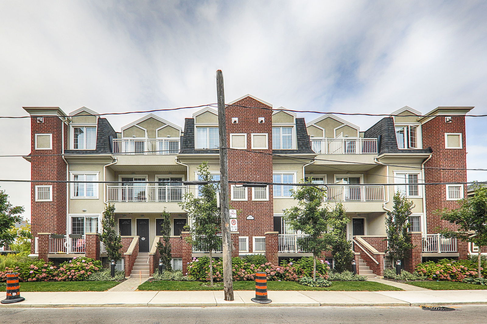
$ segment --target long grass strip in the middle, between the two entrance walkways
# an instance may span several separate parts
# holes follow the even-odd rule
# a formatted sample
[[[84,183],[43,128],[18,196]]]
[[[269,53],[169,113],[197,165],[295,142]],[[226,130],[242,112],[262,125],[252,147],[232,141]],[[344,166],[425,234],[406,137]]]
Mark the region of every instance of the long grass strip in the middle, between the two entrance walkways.
[[[139,286],[139,290],[223,290],[223,287],[202,287],[199,281],[146,281]],[[234,290],[255,290],[254,281],[234,281]],[[294,281],[268,281],[268,290],[335,290],[335,291],[382,291],[402,290],[388,285],[372,281],[333,281],[333,285],[327,288],[302,286]]]

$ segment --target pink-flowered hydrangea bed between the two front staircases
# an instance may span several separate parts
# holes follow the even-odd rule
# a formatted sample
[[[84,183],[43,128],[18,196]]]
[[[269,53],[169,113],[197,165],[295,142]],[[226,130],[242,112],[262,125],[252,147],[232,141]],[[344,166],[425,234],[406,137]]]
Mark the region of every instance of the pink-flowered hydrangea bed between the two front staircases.
[[[209,280],[209,258],[202,256],[194,257],[187,264],[187,276],[192,280],[208,281]],[[216,281],[223,280],[223,262],[213,260],[213,279]],[[254,280],[255,272],[265,272],[267,280],[271,281],[298,281],[303,276],[309,276],[313,273],[313,257],[302,257],[298,261],[282,261],[281,265],[275,265],[271,262],[263,264],[253,264],[246,262],[240,257],[232,258],[233,280],[245,281]],[[317,262],[317,276],[327,279],[330,266],[326,261]]]

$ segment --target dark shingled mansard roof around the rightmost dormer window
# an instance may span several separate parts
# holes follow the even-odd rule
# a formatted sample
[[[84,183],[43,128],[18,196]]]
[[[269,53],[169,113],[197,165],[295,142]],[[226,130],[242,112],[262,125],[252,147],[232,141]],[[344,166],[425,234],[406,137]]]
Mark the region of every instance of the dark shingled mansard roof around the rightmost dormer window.
[[[425,149],[399,149],[395,137],[394,120],[385,117],[364,132],[365,138],[378,138],[379,155],[383,153],[431,153],[431,147]]]

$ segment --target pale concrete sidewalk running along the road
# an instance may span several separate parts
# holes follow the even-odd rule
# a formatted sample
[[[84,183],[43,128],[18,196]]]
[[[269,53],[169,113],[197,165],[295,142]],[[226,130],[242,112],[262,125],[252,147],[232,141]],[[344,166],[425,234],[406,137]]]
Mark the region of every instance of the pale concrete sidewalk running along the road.
[[[103,306],[419,306],[487,304],[487,290],[428,291],[269,291],[270,304],[250,299],[255,291],[235,291],[224,300],[223,291],[78,291],[22,292],[25,301],[0,307]]]

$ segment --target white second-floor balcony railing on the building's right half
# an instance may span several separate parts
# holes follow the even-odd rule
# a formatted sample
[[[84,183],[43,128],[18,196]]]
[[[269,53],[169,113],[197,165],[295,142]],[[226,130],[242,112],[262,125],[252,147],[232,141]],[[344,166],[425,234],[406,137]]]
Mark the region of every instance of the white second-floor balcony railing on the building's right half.
[[[328,186],[328,201],[385,201],[385,186]]]

